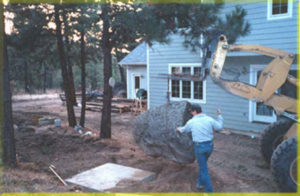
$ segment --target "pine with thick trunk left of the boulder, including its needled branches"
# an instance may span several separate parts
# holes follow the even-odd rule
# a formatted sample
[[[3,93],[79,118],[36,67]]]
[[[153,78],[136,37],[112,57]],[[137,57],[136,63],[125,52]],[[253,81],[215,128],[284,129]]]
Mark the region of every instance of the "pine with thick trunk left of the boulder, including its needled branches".
[[[104,97],[101,119],[101,138],[111,137],[112,52],[143,38],[148,43],[167,42],[172,32],[147,4],[114,4],[104,1],[98,5],[101,26],[99,39],[104,55]]]

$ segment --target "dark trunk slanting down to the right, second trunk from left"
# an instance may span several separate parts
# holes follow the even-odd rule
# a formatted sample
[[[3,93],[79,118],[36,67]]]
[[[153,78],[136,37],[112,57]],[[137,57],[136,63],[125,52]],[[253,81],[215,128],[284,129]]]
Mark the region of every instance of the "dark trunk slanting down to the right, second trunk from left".
[[[59,5],[55,5],[55,24],[56,24],[56,38],[57,38],[57,49],[59,53],[59,61],[61,65],[61,73],[63,78],[63,85],[66,97],[66,105],[67,105],[67,112],[68,112],[68,122],[69,126],[74,127],[76,125],[76,118],[74,114],[74,108],[72,102],[70,101],[70,82],[68,78],[68,71],[67,71],[67,63],[65,59],[64,53],[64,45],[62,40],[61,34],[61,21],[59,19]]]

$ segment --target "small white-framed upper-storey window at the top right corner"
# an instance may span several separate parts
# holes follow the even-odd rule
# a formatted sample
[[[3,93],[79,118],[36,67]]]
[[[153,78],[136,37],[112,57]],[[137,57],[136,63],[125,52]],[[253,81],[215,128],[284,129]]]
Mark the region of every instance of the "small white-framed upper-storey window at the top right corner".
[[[293,0],[268,0],[268,20],[292,17]]]

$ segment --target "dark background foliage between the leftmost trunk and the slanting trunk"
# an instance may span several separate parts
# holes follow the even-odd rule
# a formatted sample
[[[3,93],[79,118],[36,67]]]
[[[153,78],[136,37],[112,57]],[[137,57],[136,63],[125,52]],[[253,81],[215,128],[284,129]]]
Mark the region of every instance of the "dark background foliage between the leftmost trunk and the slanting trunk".
[[[51,21],[46,5],[13,4],[6,7],[12,15],[13,31],[8,35],[10,78],[15,90],[54,87],[57,70],[55,37],[47,24]],[[47,14],[46,14],[47,13]],[[45,74],[46,73],[46,74]]]

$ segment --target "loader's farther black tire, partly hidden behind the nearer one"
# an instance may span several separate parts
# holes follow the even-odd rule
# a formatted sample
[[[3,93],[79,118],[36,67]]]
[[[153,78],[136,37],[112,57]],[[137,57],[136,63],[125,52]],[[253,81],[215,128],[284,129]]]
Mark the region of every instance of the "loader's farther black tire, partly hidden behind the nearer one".
[[[292,126],[293,122],[288,119],[276,121],[267,126],[263,132],[260,149],[269,164],[275,148],[283,141],[284,134]]]

